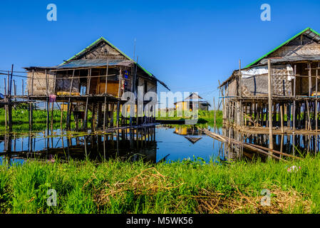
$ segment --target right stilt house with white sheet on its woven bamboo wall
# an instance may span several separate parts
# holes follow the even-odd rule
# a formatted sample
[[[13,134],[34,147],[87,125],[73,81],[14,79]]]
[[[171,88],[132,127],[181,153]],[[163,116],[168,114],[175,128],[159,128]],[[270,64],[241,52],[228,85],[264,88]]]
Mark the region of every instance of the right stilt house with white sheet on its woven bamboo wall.
[[[319,125],[320,34],[306,28],[220,85],[224,125],[310,133]]]

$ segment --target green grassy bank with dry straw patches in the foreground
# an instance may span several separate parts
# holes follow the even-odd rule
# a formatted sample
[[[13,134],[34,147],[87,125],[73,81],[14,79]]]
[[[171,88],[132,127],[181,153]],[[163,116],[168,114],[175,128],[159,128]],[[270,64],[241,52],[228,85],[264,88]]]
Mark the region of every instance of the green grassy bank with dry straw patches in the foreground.
[[[319,213],[320,156],[292,162],[0,166],[1,213]],[[288,172],[291,165],[301,167]],[[46,192],[55,189],[57,207]],[[271,193],[262,206],[261,191]]]

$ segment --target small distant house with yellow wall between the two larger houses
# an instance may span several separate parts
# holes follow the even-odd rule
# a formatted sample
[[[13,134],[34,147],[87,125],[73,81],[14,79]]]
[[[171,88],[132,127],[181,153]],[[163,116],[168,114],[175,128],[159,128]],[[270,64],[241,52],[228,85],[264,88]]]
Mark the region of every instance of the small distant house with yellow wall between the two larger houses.
[[[194,107],[195,105],[195,107]],[[197,95],[197,93],[191,93],[185,100],[175,103],[175,110],[209,110],[210,103],[207,100]]]

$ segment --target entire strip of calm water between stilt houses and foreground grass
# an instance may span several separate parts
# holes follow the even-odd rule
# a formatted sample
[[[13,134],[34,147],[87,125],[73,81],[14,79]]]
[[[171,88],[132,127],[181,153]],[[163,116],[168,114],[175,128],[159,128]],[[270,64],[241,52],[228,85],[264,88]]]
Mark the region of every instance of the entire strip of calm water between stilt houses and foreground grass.
[[[212,132],[242,142],[268,147],[269,135],[243,134],[232,128],[205,126]],[[274,135],[274,149],[302,156],[319,150],[318,135]],[[267,157],[243,147],[220,142],[205,135],[194,125],[159,125],[157,127],[115,130],[91,134],[46,130],[36,133],[0,134],[0,163],[23,163],[25,160],[95,160],[110,158],[168,162],[193,160],[234,161],[265,160]]]

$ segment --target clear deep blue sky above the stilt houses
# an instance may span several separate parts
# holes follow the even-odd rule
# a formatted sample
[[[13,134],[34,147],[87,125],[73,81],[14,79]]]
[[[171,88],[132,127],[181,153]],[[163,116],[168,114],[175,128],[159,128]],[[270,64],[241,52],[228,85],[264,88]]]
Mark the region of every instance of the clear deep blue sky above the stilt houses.
[[[57,21],[47,20],[48,4]],[[271,21],[261,20],[262,4]],[[0,71],[56,66],[103,36],[132,58],[136,46],[138,62],[173,93],[198,92],[212,103],[239,60],[247,66],[306,27],[320,31],[319,10],[319,0],[2,0]]]

